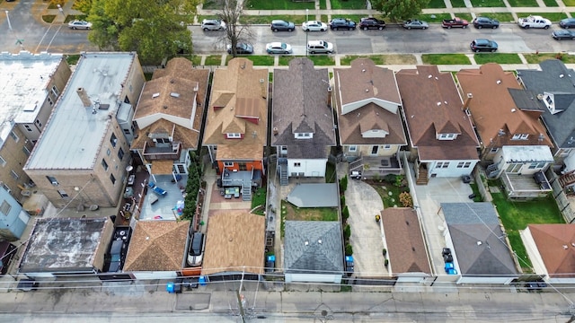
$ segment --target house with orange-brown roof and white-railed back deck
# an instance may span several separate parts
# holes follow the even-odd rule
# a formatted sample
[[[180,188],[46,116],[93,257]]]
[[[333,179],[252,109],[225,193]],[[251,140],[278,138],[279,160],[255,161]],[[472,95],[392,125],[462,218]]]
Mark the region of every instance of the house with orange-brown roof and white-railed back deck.
[[[501,178],[509,197],[530,198],[549,192],[544,170],[553,163],[553,158],[547,158],[552,155],[553,143],[539,120],[545,108],[539,100],[533,100],[535,94],[523,90],[515,75],[498,64],[462,69],[457,79],[467,96],[464,109],[481,138],[487,176]],[[540,152],[531,158],[524,158],[527,156],[518,148],[507,153],[519,155],[500,151],[504,146],[529,145],[540,146],[536,148]]]

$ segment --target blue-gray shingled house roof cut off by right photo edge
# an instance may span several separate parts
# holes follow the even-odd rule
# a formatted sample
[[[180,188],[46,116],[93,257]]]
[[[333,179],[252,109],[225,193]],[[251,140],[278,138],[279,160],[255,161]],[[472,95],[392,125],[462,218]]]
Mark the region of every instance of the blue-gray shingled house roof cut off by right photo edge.
[[[554,93],[555,105],[562,112],[552,114],[544,110],[541,118],[558,148],[575,148],[575,71],[558,59],[539,63],[541,71],[517,70],[517,76],[527,89],[536,93]],[[560,94],[561,98],[558,98]],[[559,100],[558,100],[559,99]]]

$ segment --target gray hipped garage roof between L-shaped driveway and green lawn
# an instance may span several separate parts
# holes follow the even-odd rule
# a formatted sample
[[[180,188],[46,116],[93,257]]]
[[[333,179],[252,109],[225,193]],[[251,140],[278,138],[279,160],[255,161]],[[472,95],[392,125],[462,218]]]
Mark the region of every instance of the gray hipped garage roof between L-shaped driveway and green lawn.
[[[461,275],[517,275],[490,202],[442,203]]]

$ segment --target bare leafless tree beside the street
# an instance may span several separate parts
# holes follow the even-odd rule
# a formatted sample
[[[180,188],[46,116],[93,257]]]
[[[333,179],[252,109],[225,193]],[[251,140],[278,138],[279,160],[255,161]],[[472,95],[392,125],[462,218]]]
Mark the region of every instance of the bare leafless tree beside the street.
[[[232,45],[231,54],[237,56],[237,44],[249,43],[254,37],[250,25],[240,24],[243,14],[243,0],[220,0],[223,8],[217,15],[226,22],[226,44]]]

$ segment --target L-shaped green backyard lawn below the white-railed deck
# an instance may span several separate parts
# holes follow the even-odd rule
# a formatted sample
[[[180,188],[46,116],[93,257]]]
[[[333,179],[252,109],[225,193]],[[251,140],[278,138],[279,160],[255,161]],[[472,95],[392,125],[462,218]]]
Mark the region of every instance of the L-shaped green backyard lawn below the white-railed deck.
[[[564,223],[557,203],[553,200],[553,196],[526,202],[509,201],[501,193],[491,193],[491,196],[509,237],[511,248],[517,253],[520,265],[528,270],[531,261],[527,257],[519,230],[525,230],[528,224]]]

